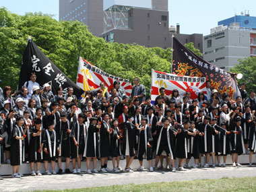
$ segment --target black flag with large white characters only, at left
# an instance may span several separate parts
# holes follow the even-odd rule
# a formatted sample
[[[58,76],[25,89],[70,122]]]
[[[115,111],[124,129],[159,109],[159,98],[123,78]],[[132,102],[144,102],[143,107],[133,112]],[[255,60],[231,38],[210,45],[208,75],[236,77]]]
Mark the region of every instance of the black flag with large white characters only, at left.
[[[30,74],[36,73],[36,82],[40,86],[50,84],[53,94],[57,94],[57,88],[63,88],[63,94],[67,94],[67,88],[73,88],[73,94],[79,98],[84,90],[74,84],[53,62],[40,51],[38,46],[28,40],[28,45],[23,55],[23,63],[20,69],[19,89],[30,80]]]

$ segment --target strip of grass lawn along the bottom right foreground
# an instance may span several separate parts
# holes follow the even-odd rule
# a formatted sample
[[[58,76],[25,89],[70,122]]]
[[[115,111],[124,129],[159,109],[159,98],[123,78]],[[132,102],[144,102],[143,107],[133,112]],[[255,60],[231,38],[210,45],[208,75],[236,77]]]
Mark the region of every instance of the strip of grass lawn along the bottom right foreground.
[[[143,185],[113,185],[109,187],[92,187],[63,191],[256,191],[256,177],[203,179]]]

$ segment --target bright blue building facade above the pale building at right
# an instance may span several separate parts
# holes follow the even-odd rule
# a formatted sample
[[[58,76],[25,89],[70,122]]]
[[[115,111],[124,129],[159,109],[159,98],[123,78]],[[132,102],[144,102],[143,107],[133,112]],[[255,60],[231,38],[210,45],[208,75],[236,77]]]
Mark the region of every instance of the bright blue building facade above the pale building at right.
[[[241,28],[256,30],[256,17],[252,17],[249,15],[235,15],[232,18],[228,18],[226,20],[218,22],[218,26],[223,25],[229,27],[230,24],[233,22],[240,23]]]

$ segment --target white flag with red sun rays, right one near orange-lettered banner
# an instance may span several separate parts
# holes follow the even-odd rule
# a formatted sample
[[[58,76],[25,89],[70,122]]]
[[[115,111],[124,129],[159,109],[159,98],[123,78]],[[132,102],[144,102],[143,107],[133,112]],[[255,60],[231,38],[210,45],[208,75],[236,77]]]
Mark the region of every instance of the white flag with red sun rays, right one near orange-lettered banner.
[[[154,103],[156,97],[160,95],[160,88],[165,88],[165,94],[169,98],[172,96],[172,90],[174,89],[179,90],[181,96],[185,95],[186,92],[190,92],[191,99],[197,99],[199,92],[207,94],[205,77],[179,76],[152,69],[152,103]]]

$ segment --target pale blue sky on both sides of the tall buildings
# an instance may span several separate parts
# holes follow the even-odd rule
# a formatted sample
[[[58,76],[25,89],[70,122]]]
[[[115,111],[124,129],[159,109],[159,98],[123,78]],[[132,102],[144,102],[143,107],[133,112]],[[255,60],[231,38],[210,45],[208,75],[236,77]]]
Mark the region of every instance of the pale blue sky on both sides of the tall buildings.
[[[129,1],[129,0],[127,0]],[[181,25],[181,33],[210,34],[210,28],[217,26],[218,21],[230,18],[236,12],[249,9],[250,15],[256,16],[255,0],[168,0],[170,25]],[[24,15],[26,12],[49,13],[59,20],[59,0],[1,0],[0,7]]]

